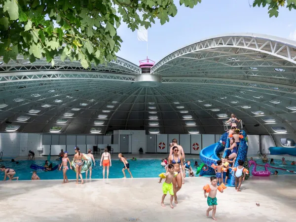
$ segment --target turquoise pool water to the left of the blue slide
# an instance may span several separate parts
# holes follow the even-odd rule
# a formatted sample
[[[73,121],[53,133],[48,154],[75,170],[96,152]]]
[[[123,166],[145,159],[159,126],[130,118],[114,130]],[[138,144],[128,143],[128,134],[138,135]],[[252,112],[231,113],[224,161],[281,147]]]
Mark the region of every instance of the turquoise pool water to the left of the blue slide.
[[[194,161],[199,159],[190,159],[192,169],[194,170]],[[0,164],[5,167],[12,168],[16,171],[16,177],[19,177],[19,180],[31,180],[33,169],[30,168],[31,164],[36,164],[43,166],[45,160],[18,160],[19,164],[10,161],[3,161]],[[61,161],[51,161],[53,165],[60,164]],[[134,178],[156,178],[162,172],[165,172],[163,166],[160,165],[161,160],[159,159],[139,159],[137,161],[128,160],[130,164],[130,171]],[[69,164],[68,164],[69,166]],[[122,168],[123,163],[119,160],[112,160],[112,166],[110,167],[109,178],[122,178]],[[96,166],[93,165],[92,168],[92,179],[102,179],[103,178],[103,167],[100,166],[100,161],[96,161]],[[106,172],[107,173],[107,172]],[[106,177],[105,173],[105,177]],[[125,170],[127,178],[130,178],[130,175],[127,170]],[[63,171],[58,169],[55,171],[43,171],[37,170],[37,175],[41,180],[63,180]],[[4,172],[0,171],[0,179],[3,180]],[[67,171],[68,179],[76,179],[76,173],[69,168]],[[85,178],[85,173],[82,173],[83,179]],[[88,174],[89,178],[89,174]]]

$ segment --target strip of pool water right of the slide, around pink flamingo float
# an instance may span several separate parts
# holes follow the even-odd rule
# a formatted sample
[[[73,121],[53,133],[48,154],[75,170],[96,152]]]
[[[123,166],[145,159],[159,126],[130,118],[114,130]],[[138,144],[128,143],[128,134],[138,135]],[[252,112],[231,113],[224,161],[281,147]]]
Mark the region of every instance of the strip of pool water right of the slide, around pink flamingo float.
[[[260,165],[266,164],[266,163],[263,163],[261,159],[254,159],[254,160],[256,161],[257,164],[260,164]],[[278,168],[285,169],[285,170],[280,170],[280,169],[274,169],[274,168],[269,167],[268,170],[271,173],[274,173],[274,171],[277,170],[279,172],[278,175],[296,175],[296,173],[291,173],[291,172],[286,171],[286,170],[291,170],[291,171],[296,172],[296,165],[291,165],[292,161],[286,161],[287,165],[283,165],[281,160],[275,159],[274,164],[270,164],[270,159],[269,159],[268,163],[271,167],[278,167]],[[252,169],[253,169],[253,165],[250,167],[250,175],[251,176],[252,176],[252,173],[251,173]],[[257,165],[256,170],[257,171],[265,170],[265,167]]]

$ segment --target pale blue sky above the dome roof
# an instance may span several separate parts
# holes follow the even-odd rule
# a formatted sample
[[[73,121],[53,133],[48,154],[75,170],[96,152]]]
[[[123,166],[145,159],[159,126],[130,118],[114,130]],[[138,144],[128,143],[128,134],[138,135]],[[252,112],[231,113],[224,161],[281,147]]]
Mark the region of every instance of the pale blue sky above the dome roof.
[[[253,4],[253,0],[250,0]],[[296,40],[296,10],[280,8],[277,18],[269,18],[267,7],[250,7],[248,0],[202,0],[193,9],[180,6],[177,15],[164,25],[155,21],[148,29],[148,58],[158,62],[170,53],[201,39],[227,33],[258,33]],[[121,23],[122,38],[117,56],[136,65],[147,57],[147,42],[137,39]]]

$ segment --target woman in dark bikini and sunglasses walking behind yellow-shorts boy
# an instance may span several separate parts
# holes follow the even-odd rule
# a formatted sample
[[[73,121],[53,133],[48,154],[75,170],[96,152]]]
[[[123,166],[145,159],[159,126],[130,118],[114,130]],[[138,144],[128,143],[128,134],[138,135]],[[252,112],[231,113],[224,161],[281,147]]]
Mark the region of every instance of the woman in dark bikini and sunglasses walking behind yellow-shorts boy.
[[[174,146],[173,147],[173,154],[169,156],[169,164],[174,165],[174,170],[178,172],[177,177],[173,178],[173,189],[174,189],[174,197],[175,197],[175,203],[177,204],[177,192],[181,189],[182,187],[182,175],[181,175],[181,167],[183,169],[183,172],[185,172],[184,169],[184,163],[183,163],[183,158],[181,154],[178,154],[178,147]],[[181,167],[180,167],[181,164]],[[168,169],[167,169],[168,172]]]

